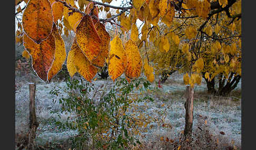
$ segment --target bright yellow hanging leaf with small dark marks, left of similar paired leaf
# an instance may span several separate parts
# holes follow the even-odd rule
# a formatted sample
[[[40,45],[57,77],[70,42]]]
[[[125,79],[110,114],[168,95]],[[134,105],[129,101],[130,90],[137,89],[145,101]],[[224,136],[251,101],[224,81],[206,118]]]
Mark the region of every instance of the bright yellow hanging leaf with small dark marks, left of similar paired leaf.
[[[110,41],[109,75],[113,81],[121,76],[127,66],[126,52],[121,39],[116,36]],[[111,56],[113,56],[111,58]]]

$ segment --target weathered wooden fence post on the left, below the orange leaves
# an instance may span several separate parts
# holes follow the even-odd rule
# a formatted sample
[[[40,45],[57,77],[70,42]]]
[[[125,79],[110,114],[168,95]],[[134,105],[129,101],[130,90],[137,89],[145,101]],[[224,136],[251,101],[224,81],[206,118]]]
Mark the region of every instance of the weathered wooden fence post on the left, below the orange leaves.
[[[34,139],[39,123],[36,120],[35,111],[35,89],[34,83],[29,83],[29,133],[28,133],[28,149],[34,149]]]

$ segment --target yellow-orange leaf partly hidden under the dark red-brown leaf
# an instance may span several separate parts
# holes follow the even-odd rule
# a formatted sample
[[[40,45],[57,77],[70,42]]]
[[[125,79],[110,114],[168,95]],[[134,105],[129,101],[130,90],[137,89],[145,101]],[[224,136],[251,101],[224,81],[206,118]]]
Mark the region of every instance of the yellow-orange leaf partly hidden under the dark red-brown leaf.
[[[76,40],[74,39],[73,44],[71,46],[71,50],[74,50],[74,66],[79,74],[84,77],[87,81],[91,82],[91,80],[95,77],[97,73],[97,68],[92,66],[90,61],[84,56],[82,50],[77,45]]]

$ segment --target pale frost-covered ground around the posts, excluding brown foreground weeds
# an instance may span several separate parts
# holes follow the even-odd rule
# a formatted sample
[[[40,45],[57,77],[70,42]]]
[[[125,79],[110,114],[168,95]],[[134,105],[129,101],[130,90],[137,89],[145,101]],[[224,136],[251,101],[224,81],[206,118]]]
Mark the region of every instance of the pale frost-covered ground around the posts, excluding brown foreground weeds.
[[[16,82],[19,83],[19,87],[15,92],[15,132],[21,133],[28,130],[29,80],[21,81],[21,79],[16,79]],[[185,98],[183,95],[185,85],[182,82],[182,76],[173,74],[165,84],[162,84],[162,88],[153,91],[155,99],[153,102],[146,101],[146,103],[136,103],[136,111],[130,111],[130,114],[143,112],[145,115],[156,119],[142,130],[141,136],[139,137],[141,140],[154,140],[162,136],[168,136],[171,139],[184,130]],[[111,79],[96,80],[92,83],[98,88],[100,88],[102,84],[105,85],[105,87],[111,87],[113,85]],[[77,134],[76,131],[59,130],[54,124],[55,121],[65,121],[68,116],[71,116],[71,119],[74,117],[74,114],[63,113],[60,114],[61,118],[59,118],[57,112],[60,111],[61,105],[58,104],[58,101],[53,104],[53,100],[58,100],[66,96],[64,92],[65,86],[66,83],[63,81],[52,83],[36,82],[36,113],[37,120],[40,122],[36,142],[40,145],[45,145],[50,142],[64,143],[69,137]],[[157,87],[157,85],[153,84],[153,87]],[[59,94],[58,97],[50,94],[50,91],[54,88],[60,90],[61,94]],[[241,89],[241,83],[239,83],[237,90],[239,89]],[[201,125],[199,122],[203,121],[204,126],[209,128],[212,134],[227,138],[227,141],[233,140],[236,145],[241,145],[240,101],[233,101],[231,98],[207,97],[207,95],[197,94],[197,92],[204,90],[206,90],[205,84],[200,86],[195,85],[194,87],[193,131]],[[170,126],[163,126],[161,119]],[[225,135],[220,134],[221,131],[224,132]]]

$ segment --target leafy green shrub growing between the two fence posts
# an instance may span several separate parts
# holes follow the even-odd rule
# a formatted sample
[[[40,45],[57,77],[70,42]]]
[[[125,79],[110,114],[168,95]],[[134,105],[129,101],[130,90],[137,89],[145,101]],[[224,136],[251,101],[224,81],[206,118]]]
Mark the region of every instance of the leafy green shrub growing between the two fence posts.
[[[94,84],[82,79],[68,79],[66,85],[68,97],[59,101],[63,106],[61,112],[74,112],[76,117],[75,120],[68,118],[66,122],[56,122],[56,125],[78,131],[73,138],[74,148],[125,149],[140,144],[133,137],[132,128],[136,121],[126,112],[134,102],[152,100],[148,95],[137,99],[131,97],[134,89],[150,89],[148,81],[139,78],[128,83],[125,79],[119,79],[111,89],[102,88],[99,97],[89,94],[96,93]],[[58,95],[58,91],[53,90],[51,94]]]

